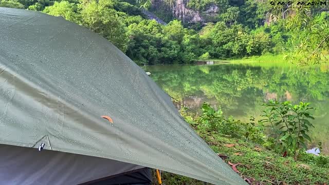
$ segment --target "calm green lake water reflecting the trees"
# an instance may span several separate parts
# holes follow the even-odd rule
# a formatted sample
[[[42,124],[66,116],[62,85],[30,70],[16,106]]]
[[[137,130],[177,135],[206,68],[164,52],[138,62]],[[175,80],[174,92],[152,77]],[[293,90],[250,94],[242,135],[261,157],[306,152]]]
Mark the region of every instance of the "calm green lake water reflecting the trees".
[[[329,153],[329,66],[221,64],[146,66],[145,71],[170,96],[199,110],[203,102],[222,107],[235,119],[260,118],[269,99],[310,102],[314,112],[313,142]]]

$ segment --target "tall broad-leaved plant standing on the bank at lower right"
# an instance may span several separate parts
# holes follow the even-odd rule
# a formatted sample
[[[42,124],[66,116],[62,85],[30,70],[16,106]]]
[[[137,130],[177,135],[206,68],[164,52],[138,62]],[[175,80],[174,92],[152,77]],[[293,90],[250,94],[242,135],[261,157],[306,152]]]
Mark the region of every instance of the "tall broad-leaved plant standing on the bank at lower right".
[[[272,128],[282,152],[292,153],[296,160],[299,150],[306,149],[306,140],[311,141],[307,133],[309,127],[314,127],[309,122],[314,117],[309,110],[314,108],[309,107],[309,103],[292,105],[289,101],[279,103],[272,100],[263,106],[267,109],[261,115],[264,117],[261,122]]]

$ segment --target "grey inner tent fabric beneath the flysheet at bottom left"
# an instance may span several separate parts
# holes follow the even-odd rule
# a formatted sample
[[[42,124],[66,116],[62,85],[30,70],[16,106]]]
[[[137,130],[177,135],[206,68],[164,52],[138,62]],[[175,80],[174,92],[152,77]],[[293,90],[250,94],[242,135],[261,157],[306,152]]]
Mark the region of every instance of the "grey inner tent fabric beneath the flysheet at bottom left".
[[[142,168],[100,157],[0,144],[0,184],[73,185]]]

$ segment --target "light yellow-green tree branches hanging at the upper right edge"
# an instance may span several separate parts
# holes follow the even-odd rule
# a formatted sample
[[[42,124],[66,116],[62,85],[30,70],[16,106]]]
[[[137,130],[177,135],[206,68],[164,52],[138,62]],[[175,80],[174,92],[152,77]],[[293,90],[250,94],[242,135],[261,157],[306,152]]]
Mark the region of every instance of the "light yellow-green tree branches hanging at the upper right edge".
[[[293,33],[295,50],[286,56],[286,60],[297,60],[298,64],[316,64],[328,61],[329,17],[328,13],[319,13],[321,1],[291,1],[289,6],[278,5],[273,1],[273,15],[288,31]],[[304,2],[305,5],[298,4]]]

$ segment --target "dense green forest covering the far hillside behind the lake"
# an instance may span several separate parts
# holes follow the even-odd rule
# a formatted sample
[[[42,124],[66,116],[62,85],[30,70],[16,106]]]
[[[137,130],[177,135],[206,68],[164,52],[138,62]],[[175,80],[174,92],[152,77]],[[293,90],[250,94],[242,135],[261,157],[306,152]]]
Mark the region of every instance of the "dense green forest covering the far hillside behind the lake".
[[[216,4],[221,10],[214,22],[192,25],[178,20],[169,20],[166,25],[148,20],[142,9],[150,6],[149,0],[1,0],[0,7],[63,16],[101,34],[139,65],[266,53],[284,53],[287,61],[302,64],[326,60],[327,7],[272,2],[277,1],[191,0],[190,8],[202,10]]]

